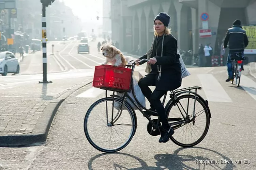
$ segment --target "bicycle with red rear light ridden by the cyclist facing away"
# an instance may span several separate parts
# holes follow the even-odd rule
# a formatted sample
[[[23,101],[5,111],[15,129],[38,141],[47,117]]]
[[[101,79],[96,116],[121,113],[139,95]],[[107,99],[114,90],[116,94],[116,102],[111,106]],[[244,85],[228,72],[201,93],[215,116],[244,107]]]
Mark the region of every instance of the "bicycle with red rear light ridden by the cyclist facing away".
[[[234,79],[236,79],[236,85],[239,87],[240,85],[240,78],[242,75],[242,68],[241,64],[243,63],[243,60],[245,58],[243,57],[242,53],[234,53],[230,56],[230,60],[232,62],[232,72],[233,72],[233,80],[231,81],[231,84],[234,83]]]

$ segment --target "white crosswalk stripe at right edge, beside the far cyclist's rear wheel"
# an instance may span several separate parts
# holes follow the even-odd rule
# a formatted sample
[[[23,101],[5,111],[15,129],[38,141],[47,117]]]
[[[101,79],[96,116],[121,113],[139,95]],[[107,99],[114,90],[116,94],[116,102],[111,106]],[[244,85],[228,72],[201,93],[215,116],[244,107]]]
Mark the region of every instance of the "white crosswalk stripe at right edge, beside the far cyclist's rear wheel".
[[[236,84],[236,80],[234,80],[234,84]],[[246,77],[245,75],[241,76],[240,86],[254,99],[256,100],[256,83]]]

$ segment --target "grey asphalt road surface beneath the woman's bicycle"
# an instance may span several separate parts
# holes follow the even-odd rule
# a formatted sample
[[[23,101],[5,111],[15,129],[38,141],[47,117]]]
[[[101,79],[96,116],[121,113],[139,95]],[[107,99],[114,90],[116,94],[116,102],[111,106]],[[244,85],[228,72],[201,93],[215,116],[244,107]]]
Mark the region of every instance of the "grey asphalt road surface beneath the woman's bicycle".
[[[97,42],[90,44],[91,54],[81,55],[76,53],[76,44],[71,43],[64,49],[65,53],[57,55],[71,71],[79,72],[82,69],[84,74],[104,61],[101,54],[97,54]],[[144,66],[139,66],[137,70],[145,74],[144,69]],[[225,82],[226,67],[188,69],[191,75],[183,79],[182,87],[202,86],[198,93],[208,99],[212,114],[208,134],[196,147],[181,148],[171,141],[159,143],[159,136],[147,133],[148,121],[137,111],[138,127],[129,145],[114,154],[97,151],[87,141],[83,123],[90,105],[104,97],[104,92],[92,90],[90,84],[74,92],[60,106],[46,143],[26,148],[1,148],[0,169],[255,169],[256,83],[253,78],[247,70],[243,71],[241,87],[236,87]],[[60,74],[65,75],[64,72],[56,73],[56,77]],[[96,113],[103,113],[102,108],[97,108]],[[95,122],[102,117],[97,117]],[[100,125],[93,123],[92,132],[96,132]],[[217,163],[202,163],[201,160],[215,160]]]

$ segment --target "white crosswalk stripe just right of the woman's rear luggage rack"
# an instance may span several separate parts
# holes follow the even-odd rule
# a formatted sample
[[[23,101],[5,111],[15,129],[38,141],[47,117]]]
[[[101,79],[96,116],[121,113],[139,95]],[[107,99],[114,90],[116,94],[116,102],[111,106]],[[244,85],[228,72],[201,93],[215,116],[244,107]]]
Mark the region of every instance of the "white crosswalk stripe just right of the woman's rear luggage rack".
[[[209,102],[230,102],[231,98],[212,74],[198,74],[202,89]]]

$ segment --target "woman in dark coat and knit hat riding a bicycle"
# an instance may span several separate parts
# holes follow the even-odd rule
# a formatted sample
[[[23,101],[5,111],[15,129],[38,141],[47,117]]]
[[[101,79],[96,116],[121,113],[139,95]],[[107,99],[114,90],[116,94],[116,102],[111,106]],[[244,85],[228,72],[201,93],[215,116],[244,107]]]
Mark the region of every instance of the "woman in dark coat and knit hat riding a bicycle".
[[[155,17],[154,39],[151,48],[147,54],[136,60],[149,59],[147,64],[147,69],[150,70],[149,74],[141,78],[138,85],[150,102],[149,110],[156,111],[160,117],[162,129],[159,142],[164,143],[174,134],[174,130],[168,123],[165,108],[160,99],[167,91],[181,86],[181,65],[180,56],[177,54],[177,40],[168,29],[169,22],[170,16],[166,13],[159,13]],[[149,86],[155,86],[155,90],[152,92]],[[149,115],[150,113],[145,111],[145,114]]]

